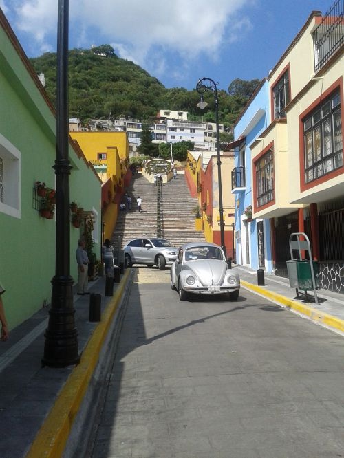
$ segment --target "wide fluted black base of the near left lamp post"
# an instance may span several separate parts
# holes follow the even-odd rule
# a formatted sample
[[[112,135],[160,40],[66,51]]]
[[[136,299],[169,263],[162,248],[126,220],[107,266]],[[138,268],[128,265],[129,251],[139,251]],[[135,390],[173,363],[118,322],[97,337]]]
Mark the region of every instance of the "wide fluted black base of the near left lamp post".
[[[52,307],[45,331],[42,366],[67,367],[78,364],[78,331],[74,324],[73,279],[61,276],[52,279]]]

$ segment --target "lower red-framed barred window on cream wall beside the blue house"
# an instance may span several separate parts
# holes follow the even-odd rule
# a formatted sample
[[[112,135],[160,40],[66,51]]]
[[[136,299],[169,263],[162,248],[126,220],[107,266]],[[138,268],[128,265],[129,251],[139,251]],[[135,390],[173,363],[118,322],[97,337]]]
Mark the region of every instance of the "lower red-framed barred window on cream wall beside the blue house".
[[[264,206],[274,199],[274,153],[268,150],[255,162],[257,184],[257,207]]]

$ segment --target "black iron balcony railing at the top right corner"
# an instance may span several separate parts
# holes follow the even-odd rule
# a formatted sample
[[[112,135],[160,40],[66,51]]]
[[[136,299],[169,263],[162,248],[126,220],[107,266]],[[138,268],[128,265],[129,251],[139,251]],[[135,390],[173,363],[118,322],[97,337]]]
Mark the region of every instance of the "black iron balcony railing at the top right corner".
[[[344,44],[344,0],[336,0],[313,32],[314,71],[318,72]]]

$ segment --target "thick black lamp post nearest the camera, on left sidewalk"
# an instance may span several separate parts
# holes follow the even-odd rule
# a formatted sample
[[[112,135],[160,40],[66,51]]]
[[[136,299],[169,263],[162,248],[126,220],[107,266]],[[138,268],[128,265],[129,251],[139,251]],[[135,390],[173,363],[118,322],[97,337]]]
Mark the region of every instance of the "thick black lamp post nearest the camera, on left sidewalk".
[[[56,101],[56,261],[43,366],[78,364],[73,279],[69,274],[68,0],[58,0]]]

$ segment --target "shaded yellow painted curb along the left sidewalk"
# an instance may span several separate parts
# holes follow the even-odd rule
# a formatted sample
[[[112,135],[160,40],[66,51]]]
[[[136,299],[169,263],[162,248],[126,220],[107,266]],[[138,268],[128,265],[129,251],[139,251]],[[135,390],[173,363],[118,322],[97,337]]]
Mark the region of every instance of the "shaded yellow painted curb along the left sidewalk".
[[[100,350],[120,303],[130,272],[130,269],[125,271],[114,297],[103,313],[102,320],[94,329],[81,355],[80,364],[69,375],[43,426],[37,433],[28,455],[26,455],[27,458],[57,458],[62,456],[72,424],[87,391],[89,380],[94,373]]]

